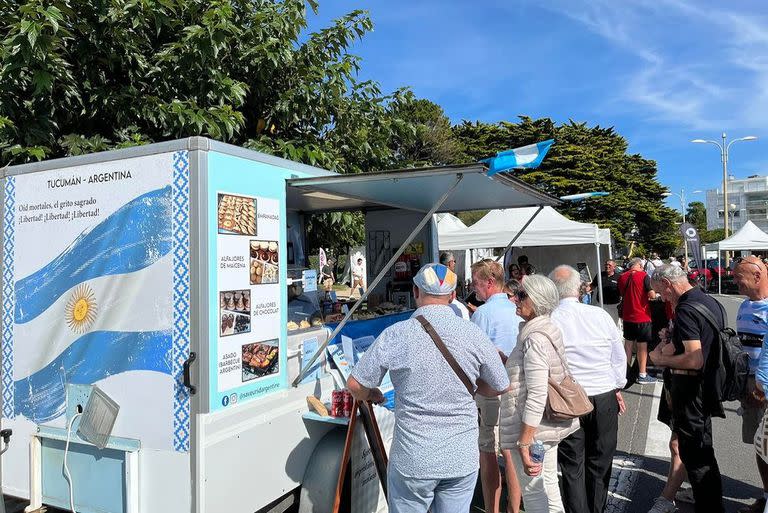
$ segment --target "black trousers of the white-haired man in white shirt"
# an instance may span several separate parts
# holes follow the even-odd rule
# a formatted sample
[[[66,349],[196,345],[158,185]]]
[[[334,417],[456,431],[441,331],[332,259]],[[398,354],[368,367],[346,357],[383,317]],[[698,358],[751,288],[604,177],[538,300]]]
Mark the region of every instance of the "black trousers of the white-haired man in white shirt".
[[[581,429],[561,441],[557,449],[566,513],[602,513],[608,499],[619,403],[614,391],[589,400],[594,410],[579,419]]]

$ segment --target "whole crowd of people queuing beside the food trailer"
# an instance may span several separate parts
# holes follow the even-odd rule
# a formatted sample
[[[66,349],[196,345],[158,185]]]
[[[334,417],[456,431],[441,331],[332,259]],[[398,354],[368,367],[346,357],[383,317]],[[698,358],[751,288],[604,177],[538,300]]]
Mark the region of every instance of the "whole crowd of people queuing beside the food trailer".
[[[456,299],[455,261],[450,254],[440,261],[414,278],[413,316],[385,329],[348,381],[356,399],[379,402],[377,387],[390,373],[397,397],[390,511],[467,512],[479,479],[485,511],[497,513],[503,476],[507,513],[521,503],[534,513],[603,512],[618,416],[626,409],[621,391],[628,379],[657,382],[651,366],[663,370],[658,418],[671,429],[671,464],[649,511],[672,512],[679,500],[693,502],[697,512],[724,511],[712,417],[724,416],[716,381],[728,323],[679,262],[652,262],[650,274],[642,258],[627,262],[623,273],[606,262],[600,308],[583,301],[576,269],[561,265],[545,276],[527,259],[506,273],[494,260],[474,263],[476,302],[465,305]],[[740,259],[734,280],[747,296],[737,328],[753,373],[742,400],[742,434],[755,444],[765,487],[744,511],[757,512],[768,498],[768,351],[761,351],[768,269],[759,258]],[[656,301],[666,311],[660,329],[651,315]],[[562,415],[552,405],[553,390],[572,382],[589,403],[586,414]],[[686,479],[690,489],[682,487]]]

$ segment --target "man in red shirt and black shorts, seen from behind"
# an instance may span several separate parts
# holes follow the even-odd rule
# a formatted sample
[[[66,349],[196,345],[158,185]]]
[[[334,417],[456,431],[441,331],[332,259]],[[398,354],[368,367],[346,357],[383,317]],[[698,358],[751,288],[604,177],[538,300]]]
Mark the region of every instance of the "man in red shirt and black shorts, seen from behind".
[[[651,278],[643,271],[643,259],[629,261],[627,271],[619,277],[621,294],[621,319],[624,321],[624,349],[627,362],[632,361],[633,346],[637,351],[637,363],[640,368],[638,383],[655,383],[656,380],[645,372],[648,363],[648,343],[652,340],[650,300],[656,297],[651,288]]]

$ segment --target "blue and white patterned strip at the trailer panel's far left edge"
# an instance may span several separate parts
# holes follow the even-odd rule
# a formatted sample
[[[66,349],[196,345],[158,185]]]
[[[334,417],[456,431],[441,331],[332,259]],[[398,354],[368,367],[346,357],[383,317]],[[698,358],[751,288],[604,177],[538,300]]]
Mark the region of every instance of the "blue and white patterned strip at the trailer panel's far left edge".
[[[13,312],[16,308],[14,293],[14,255],[16,245],[16,178],[5,179],[5,211],[3,215],[3,417],[14,417],[13,385]]]

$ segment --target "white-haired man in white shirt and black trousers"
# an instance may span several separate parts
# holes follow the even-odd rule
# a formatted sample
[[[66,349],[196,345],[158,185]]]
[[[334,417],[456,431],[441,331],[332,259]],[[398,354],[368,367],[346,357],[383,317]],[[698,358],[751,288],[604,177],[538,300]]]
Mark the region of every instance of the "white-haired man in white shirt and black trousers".
[[[563,504],[567,513],[602,513],[616,452],[618,415],[625,409],[620,392],[627,382],[624,337],[603,309],[579,302],[581,276],[576,269],[561,265],[549,277],[560,293],[552,322],[563,332],[571,375],[594,406],[579,419],[581,429],[558,446]]]

